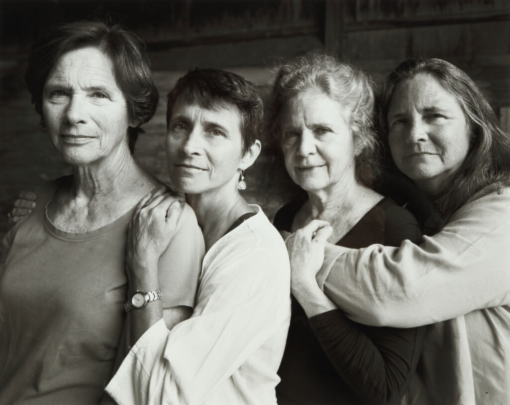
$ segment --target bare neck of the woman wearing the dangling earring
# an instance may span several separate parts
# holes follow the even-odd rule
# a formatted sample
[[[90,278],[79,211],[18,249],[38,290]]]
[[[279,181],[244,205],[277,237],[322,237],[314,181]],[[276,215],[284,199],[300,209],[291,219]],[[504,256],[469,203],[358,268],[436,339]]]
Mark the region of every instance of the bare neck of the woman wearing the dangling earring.
[[[186,194],[186,202],[195,211],[206,243],[206,251],[239,217],[252,211],[235,187],[220,187],[212,193]]]

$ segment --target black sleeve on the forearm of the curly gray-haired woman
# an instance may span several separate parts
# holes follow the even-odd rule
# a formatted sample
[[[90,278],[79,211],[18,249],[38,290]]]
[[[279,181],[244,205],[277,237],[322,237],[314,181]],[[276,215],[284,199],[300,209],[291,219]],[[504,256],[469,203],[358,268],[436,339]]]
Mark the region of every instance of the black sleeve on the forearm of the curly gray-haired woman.
[[[309,323],[329,362],[364,402],[400,401],[418,364],[425,327],[363,327],[340,309]]]

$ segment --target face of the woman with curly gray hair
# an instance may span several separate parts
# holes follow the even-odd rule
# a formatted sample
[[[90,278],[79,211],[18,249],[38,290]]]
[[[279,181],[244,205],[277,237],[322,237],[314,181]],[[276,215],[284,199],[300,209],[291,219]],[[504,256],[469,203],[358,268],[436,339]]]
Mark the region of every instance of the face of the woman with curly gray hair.
[[[354,142],[345,116],[342,105],[319,89],[305,90],[284,104],[285,166],[304,190],[327,191],[354,179]]]

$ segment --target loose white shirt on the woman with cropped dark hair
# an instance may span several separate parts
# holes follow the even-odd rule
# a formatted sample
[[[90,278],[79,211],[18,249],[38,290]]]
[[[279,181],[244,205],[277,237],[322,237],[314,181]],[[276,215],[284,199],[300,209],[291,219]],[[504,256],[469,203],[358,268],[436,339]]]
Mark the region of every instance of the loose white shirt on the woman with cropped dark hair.
[[[106,388],[120,404],[271,404],[290,320],[287,249],[259,206],[206,253],[190,319],[160,320]]]

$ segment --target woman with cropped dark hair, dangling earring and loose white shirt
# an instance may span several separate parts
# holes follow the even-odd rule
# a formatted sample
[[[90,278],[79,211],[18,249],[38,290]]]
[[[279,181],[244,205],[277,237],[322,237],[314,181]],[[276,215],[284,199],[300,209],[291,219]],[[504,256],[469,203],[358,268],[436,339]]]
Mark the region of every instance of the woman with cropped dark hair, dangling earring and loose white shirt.
[[[260,206],[241,191],[261,144],[256,87],[218,69],[180,78],[167,105],[172,184],[195,211],[206,244],[190,319],[168,330],[158,302],[133,314],[136,342],[106,391],[119,404],[275,404],[290,318],[289,258]],[[158,289],[172,237],[165,197],[144,199],[127,249],[131,288]],[[145,205],[142,208],[141,205]]]

